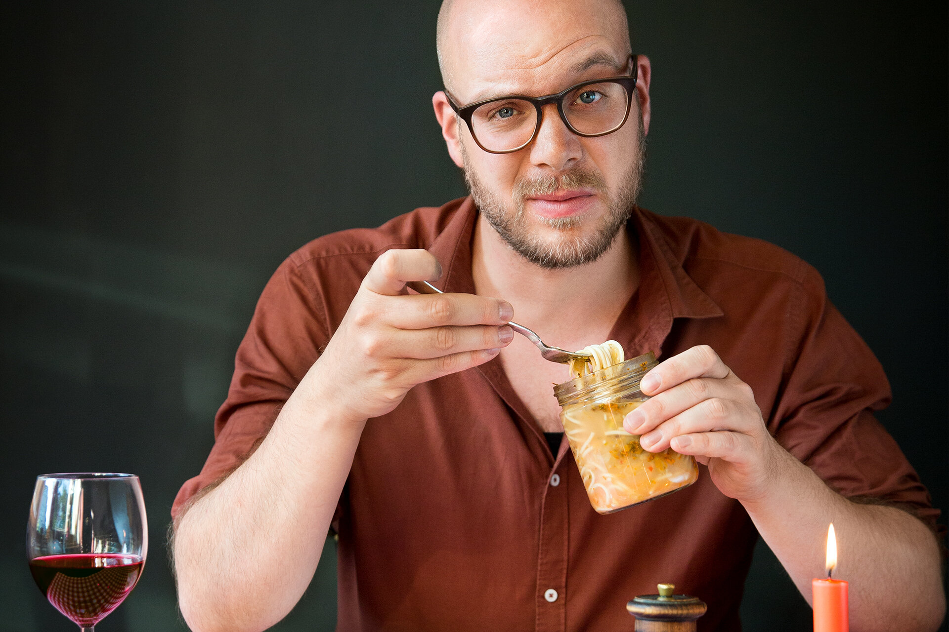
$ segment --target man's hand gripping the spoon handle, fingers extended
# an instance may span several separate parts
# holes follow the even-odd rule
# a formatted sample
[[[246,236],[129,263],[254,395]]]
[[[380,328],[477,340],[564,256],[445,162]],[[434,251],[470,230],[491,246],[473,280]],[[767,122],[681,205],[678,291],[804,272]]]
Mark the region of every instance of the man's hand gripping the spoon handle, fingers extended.
[[[384,415],[410,388],[483,364],[511,342],[513,308],[505,300],[401,294],[407,281],[440,276],[426,250],[388,250],[373,263],[305,378],[344,420]]]

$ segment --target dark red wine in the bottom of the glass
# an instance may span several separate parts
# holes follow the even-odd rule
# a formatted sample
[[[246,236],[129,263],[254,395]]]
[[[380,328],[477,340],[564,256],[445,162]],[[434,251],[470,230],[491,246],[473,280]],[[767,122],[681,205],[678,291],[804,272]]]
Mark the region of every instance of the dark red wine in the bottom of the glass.
[[[121,553],[47,555],[29,560],[29,571],[50,604],[92,627],[132,592],[143,564],[138,555]]]

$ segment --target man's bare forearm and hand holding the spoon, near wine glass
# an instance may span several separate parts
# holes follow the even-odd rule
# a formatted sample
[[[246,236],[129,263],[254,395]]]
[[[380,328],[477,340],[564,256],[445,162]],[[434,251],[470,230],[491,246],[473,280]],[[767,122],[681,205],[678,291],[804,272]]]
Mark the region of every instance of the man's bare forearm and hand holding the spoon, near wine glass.
[[[510,303],[402,295],[406,281],[437,280],[440,269],[424,250],[383,253],[264,442],[179,519],[178,600],[192,629],[262,630],[283,618],[312,579],[366,420],[511,341]]]

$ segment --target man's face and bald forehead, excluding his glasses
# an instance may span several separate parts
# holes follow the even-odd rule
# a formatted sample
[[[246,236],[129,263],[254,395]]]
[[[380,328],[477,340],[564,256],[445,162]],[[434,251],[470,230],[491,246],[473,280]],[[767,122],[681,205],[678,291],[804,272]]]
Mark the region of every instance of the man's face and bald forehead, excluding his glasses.
[[[447,87],[466,105],[506,95],[547,95],[581,81],[626,75],[629,50],[621,11],[593,0],[456,0],[442,50]],[[573,134],[556,106],[545,106],[537,136],[514,153],[485,152],[464,122],[455,125],[474,201],[516,252],[558,268],[594,261],[613,244],[642,177],[644,129],[637,99],[622,128],[593,138]]]

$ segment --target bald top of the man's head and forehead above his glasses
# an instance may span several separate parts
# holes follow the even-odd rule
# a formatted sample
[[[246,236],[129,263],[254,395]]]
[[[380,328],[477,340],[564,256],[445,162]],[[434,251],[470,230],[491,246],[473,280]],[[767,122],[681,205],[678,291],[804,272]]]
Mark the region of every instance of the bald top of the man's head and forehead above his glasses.
[[[487,83],[584,63],[585,54],[622,73],[629,29],[620,0],[444,0],[437,53],[445,87],[469,101]]]

